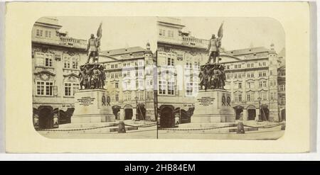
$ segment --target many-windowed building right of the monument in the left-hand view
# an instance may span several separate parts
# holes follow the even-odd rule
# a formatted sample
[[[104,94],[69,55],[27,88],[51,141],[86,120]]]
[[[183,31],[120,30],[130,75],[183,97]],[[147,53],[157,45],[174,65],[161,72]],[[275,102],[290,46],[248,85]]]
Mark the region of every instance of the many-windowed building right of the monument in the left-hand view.
[[[100,53],[105,66],[105,89],[119,120],[156,120],[154,106],[155,57],[147,43],[142,47]]]

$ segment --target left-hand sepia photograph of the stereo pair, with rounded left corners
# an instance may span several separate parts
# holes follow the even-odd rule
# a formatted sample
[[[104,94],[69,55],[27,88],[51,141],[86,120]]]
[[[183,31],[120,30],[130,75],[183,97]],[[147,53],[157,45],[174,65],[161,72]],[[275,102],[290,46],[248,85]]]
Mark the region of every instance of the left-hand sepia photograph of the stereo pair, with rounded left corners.
[[[155,18],[43,17],[33,125],[50,138],[156,138]]]

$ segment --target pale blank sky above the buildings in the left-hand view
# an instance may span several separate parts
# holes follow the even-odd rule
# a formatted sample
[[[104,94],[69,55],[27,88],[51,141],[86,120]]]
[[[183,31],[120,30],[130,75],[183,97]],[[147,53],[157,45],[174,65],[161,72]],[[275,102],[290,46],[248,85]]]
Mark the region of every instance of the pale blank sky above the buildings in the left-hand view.
[[[61,31],[68,31],[72,38],[87,40],[97,35],[102,22],[101,50],[140,46],[156,50],[156,23],[152,17],[57,17]]]

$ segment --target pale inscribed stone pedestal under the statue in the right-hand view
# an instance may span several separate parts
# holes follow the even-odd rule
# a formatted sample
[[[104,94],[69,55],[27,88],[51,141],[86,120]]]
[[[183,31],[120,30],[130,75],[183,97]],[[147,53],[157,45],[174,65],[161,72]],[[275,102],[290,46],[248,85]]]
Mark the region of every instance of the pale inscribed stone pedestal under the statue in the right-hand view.
[[[223,89],[200,90],[195,101],[191,123],[233,123],[230,92]]]

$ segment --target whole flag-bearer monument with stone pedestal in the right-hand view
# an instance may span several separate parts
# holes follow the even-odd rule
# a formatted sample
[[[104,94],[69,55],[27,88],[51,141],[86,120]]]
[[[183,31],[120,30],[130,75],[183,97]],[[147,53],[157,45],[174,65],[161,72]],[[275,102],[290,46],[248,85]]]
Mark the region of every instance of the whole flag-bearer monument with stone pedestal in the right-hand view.
[[[230,92],[224,89],[225,67],[219,64],[221,39],[223,37],[223,23],[215,35],[209,40],[208,62],[201,65],[199,77],[200,90],[195,101],[195,111],[191,123],[233,123],[235,122],[234,110],[231,107]]]

